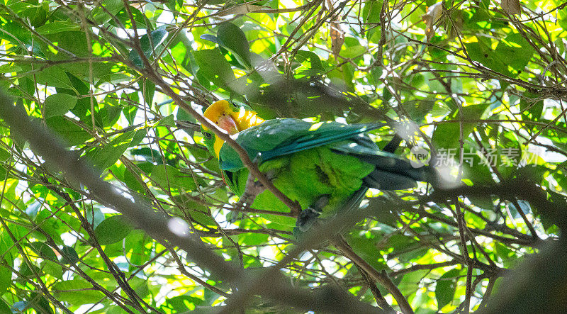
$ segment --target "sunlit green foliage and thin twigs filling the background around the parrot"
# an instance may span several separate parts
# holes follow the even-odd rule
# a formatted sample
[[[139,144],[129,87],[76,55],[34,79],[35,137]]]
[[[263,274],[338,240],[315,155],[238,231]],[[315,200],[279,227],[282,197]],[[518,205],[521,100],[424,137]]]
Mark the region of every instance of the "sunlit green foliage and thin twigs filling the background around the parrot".
[[[263,118],[386,121],[398,155],[425,150],[454,186],[529,176],[567,189],[567,10],[562,1],[0,1],[0,88],[101,177],[252,270],[282,259],[293,218],[247,212],[193,116],[218,99]],[[0,121],[0,313],[182,313],[235,286],[148,237]],[[459,166],[460,165],[460,166]],[[451,186],[447,186],[451,187]],[[415,313],[468,313],[558,238],[554,215],[517,198],[370,191],[342,230]],[[385,206],[388,204],[388,206]],[[339,230],[337,230],[338,232]],[[201,265],[202,266],[202,265]],[[295,286],[337,286],[398,309],[322,243],[286,264]],[[266,284],[269,284],[266,283]],[[468,288],[467,288],[468,286]],[[286,310],[254,298],[247,313]]]

